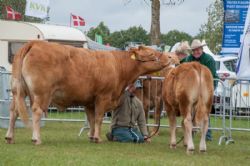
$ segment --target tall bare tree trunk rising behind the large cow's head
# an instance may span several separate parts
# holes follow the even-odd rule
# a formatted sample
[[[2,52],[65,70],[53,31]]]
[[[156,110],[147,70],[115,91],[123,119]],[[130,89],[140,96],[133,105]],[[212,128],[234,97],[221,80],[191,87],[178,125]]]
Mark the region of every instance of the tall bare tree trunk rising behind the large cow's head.
[[[151,2],[151,44],[160,45],[160,0],[151,0]]]

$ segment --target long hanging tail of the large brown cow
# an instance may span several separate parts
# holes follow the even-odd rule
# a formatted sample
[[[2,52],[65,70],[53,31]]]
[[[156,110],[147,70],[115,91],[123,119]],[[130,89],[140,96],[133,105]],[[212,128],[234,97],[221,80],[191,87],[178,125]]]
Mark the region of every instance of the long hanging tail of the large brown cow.
[[[12,91],[14,91],[15,105],[18,114],[26,126],[29,126],[29,113],[25,103],[25,97],[28,95],[28,88],[22,75],[23,60],[32,47],[33,42],[24,45],[15,55],[13,63]]]

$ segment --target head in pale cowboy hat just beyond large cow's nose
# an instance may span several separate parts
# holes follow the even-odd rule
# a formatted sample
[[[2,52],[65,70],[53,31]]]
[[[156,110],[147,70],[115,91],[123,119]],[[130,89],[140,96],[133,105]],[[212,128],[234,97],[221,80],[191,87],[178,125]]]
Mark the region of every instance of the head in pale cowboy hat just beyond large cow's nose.
[[[183,41],[179,44],[179,46],[175,50],[175,54],[180,60],[180,63],[185,61],[185,58],[190,54],[191,48],[188,44],[188,41]]]

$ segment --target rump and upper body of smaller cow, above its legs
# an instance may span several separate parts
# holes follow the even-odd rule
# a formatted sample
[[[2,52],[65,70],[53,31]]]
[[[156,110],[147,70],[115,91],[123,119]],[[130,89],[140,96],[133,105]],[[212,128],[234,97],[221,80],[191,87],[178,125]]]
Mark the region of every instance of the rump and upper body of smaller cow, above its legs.
[[[205,103],[213,94],[213,78],[209,69],[197,62],[184,63],[172,69],[163,83],[163,96],[171,105]]]

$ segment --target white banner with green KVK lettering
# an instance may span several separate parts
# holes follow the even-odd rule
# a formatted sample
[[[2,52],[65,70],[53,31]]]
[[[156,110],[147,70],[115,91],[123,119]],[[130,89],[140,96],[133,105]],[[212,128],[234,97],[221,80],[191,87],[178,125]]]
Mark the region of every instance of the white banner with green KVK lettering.
[[[27,0],[25,15],[44,19],[48,17],[49,0]]]

